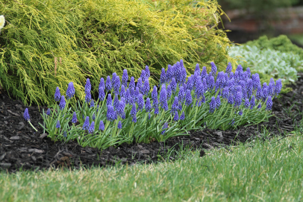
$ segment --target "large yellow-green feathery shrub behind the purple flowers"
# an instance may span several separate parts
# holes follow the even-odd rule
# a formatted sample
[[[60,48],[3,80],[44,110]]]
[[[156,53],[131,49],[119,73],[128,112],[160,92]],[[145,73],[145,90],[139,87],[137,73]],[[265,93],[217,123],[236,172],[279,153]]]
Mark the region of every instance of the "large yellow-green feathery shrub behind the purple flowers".
[[[83,99],[87,77],[97,93],[100,77],[127,69],[137,78],[144,64],[156,83],[161,68],[179,58],[234,62],[225,51],[230,41],[217,29],[217,2],[190,2],[162,1],[167,8],[159,11],[135,0],[1,1],[7,23],[0,35],[0,87],[25,104],[52,104],[56,86],[65,90],[71,81]]]

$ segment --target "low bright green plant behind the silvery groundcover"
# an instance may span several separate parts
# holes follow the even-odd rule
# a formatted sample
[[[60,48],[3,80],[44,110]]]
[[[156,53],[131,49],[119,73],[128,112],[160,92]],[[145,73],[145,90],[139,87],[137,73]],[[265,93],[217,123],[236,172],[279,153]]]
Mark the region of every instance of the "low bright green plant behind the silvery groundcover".
[[[299,55],[303,60],[303,49],[293,44],[286,35],[280,35],[271,39],[261,36],[260,38],[246,42],[244,45],[257,46],[260,49],[273,49],[282,53],[292,52],[294,55]]]

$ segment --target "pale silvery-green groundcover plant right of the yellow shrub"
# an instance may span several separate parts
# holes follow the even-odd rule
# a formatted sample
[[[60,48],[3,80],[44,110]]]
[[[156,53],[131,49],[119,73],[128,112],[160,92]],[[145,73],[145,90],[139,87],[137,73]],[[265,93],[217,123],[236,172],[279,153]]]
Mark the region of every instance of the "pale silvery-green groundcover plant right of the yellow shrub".
[[[244,68],[267,74],[283,81],[294,82],[297,80],[297,70],[303,68],[303,60],[292,52],[281,53],[273,49],[260,49],[257,46],[233,46],[229,52],[231,57],[241,55],[246,61]],[[297,70],[296,70],[297,69]]]

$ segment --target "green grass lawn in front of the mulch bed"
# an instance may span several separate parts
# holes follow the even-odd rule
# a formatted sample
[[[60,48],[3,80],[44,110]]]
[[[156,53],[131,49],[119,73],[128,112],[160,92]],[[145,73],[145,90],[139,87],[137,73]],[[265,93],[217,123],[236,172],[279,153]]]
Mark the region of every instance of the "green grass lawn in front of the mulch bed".
[[[281,138],[281,137],[279,137]],[[299,201],[303,139],[290,133],[227,149],[184,149],[175,162],[0,174],[2,201]]]

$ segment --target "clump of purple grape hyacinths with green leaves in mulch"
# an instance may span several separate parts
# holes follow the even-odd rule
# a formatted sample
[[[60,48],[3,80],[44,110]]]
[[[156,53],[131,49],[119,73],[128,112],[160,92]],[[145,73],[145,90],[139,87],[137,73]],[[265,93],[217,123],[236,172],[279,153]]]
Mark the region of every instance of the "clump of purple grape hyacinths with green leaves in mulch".
[[[259,75],[250,75],[241,65],[232,72],[229,63],[225,72],[217,72],[211,63],[195,67],[187,78],[183,61],[167,70],[162,69],[158,86],[150,89],[149,68],[142,70],[136,80],[127,70],[120,78],[116,73],[106,80],[100,78],[98,98],[91,97],[87,79],[85,100],[69,108],[75,89],[70,82],[66,95],[59,87],[52,110],[41,114],[40,124],[53,140],[77,140],[83,146],[106,148],[123,142],[165,141],[201,127],[226,130],[244,124],[258,124],[271,116],[272,99],[278,95],[281,80],[274,79],[261,85]],[[30,121],[26,110],[24,118]]]

